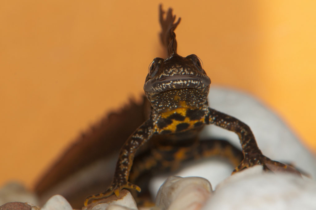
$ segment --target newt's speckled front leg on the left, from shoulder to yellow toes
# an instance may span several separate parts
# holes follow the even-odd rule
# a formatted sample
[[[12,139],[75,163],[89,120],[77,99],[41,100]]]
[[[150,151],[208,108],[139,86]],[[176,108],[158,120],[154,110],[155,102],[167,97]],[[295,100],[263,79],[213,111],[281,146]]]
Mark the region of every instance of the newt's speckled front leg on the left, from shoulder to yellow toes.
[[[141,189],[137,185],[128,182],[128,178],[137,149],[148,139],[150,139],[153,133],[153,123],[150,119],[138,127],[138,129],[128,138],[120,150],[119,159],[116,163],[114,178],[110,187],[103,193],[88,196],[84,201],[85,206],[87,206],[90,201],[93,202],[94,200],[100,200],[112,194],[119,196],[119,192],[123,188],[136,189],[138,192],[140,192]]]

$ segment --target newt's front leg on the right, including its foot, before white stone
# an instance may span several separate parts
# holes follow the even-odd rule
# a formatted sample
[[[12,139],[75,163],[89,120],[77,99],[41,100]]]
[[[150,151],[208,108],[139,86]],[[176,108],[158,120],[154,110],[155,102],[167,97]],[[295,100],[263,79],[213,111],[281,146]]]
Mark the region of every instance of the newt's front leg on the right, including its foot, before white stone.
[[[209,113],[205,119],[207,124],[215,124],[224,129],[234,131],[240,140],[244,159],[241,161],[233,173],[253,165],[262,165],[265,171],[288,171],[301,175],[294,167],[286,165],[265,157],[257,146],[254,135],[248,125],[240,120],[222,112],[209,108]]]

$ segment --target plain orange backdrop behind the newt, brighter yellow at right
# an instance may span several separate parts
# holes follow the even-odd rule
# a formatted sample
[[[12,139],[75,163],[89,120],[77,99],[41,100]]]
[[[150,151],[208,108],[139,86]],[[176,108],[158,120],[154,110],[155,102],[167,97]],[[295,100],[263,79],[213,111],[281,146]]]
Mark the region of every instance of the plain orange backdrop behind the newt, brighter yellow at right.
[[[1,185],[31,187],[79,132],[143,93],[163,56],[160,2],[1,2]],[[180,55],[199,56],[213,85],[261,99],[316,151],[316,1],[162,3],[182,17]]]

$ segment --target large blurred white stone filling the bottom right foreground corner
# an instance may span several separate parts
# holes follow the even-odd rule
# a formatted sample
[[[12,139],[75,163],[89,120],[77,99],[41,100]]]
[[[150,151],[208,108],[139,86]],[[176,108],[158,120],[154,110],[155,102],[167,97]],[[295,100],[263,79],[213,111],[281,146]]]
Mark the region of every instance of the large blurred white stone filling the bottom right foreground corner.
[[[260,173],[258,169],[245,169],[220,183],[202,210],[316,209],[314,180],[289,173]]]

